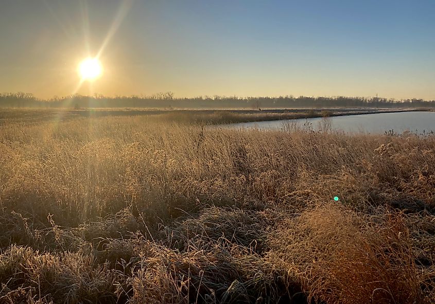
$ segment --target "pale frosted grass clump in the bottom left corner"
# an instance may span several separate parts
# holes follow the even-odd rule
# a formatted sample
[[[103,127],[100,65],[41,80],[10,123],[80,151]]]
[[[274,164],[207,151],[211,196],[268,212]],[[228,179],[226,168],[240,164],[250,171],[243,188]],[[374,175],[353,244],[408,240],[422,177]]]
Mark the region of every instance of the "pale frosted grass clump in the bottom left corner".
[[[92,255],[68,252],[54,255],[12,245],[0,260],[0,279],[5,284],[0,300],[21,302],[23,299],[14,297],[25,288],[28,292],[32,290],[38,300],[43,297],[56,302],[110,302],[105,299],[114,294],[115,277],[104,264],[96,265]]]

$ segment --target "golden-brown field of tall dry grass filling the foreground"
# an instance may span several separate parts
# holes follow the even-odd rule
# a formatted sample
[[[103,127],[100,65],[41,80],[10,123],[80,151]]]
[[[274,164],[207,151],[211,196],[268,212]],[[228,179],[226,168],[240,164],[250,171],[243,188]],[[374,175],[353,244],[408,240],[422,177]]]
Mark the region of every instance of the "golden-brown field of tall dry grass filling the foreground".
[[[0,302],[435,302],[433,136],[80,111],[0,112]]]

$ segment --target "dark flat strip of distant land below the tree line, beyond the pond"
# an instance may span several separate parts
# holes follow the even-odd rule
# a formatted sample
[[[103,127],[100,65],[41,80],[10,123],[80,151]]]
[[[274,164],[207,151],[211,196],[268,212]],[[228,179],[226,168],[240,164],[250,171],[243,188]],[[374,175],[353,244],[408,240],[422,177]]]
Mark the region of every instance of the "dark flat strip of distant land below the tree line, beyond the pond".
[[[264,109],[258,110],[160,110],[160,109],[16,109],[0,110],[0,122],[68,120],[79,117],[155,116],[162,121],[196,124],[227,124],[343,115],[432,111],[430,109]]]

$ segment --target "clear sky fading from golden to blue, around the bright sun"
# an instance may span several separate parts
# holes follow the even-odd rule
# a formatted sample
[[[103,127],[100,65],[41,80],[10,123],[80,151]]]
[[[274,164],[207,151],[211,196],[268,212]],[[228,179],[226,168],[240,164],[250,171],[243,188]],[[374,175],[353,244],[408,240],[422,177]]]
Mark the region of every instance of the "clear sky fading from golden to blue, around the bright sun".
[[[0,92],[435,100],[434,15],[433,0],[1,0]]]

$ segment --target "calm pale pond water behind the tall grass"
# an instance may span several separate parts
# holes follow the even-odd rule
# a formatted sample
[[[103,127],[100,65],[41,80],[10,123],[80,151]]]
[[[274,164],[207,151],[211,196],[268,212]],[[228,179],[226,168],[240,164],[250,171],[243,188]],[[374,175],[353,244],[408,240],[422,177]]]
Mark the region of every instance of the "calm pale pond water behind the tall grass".
[[[394,133],[410,131],[412,133],[435,132],[435,112],[400,112],[400,113],[377,113],[362,115],[345,115],[329,117],[332,130],[344,132],[385,133],[393,130]],[[225,128],[255,128],[263,130],[283,129],[286,122],[294,121],[297,126],[303,128],[307,122],[313,130],[321,128],[322,118],[301,118],[271,121],[256,121],[225,124]],[[293,122],[293,123],[294,123]]]

